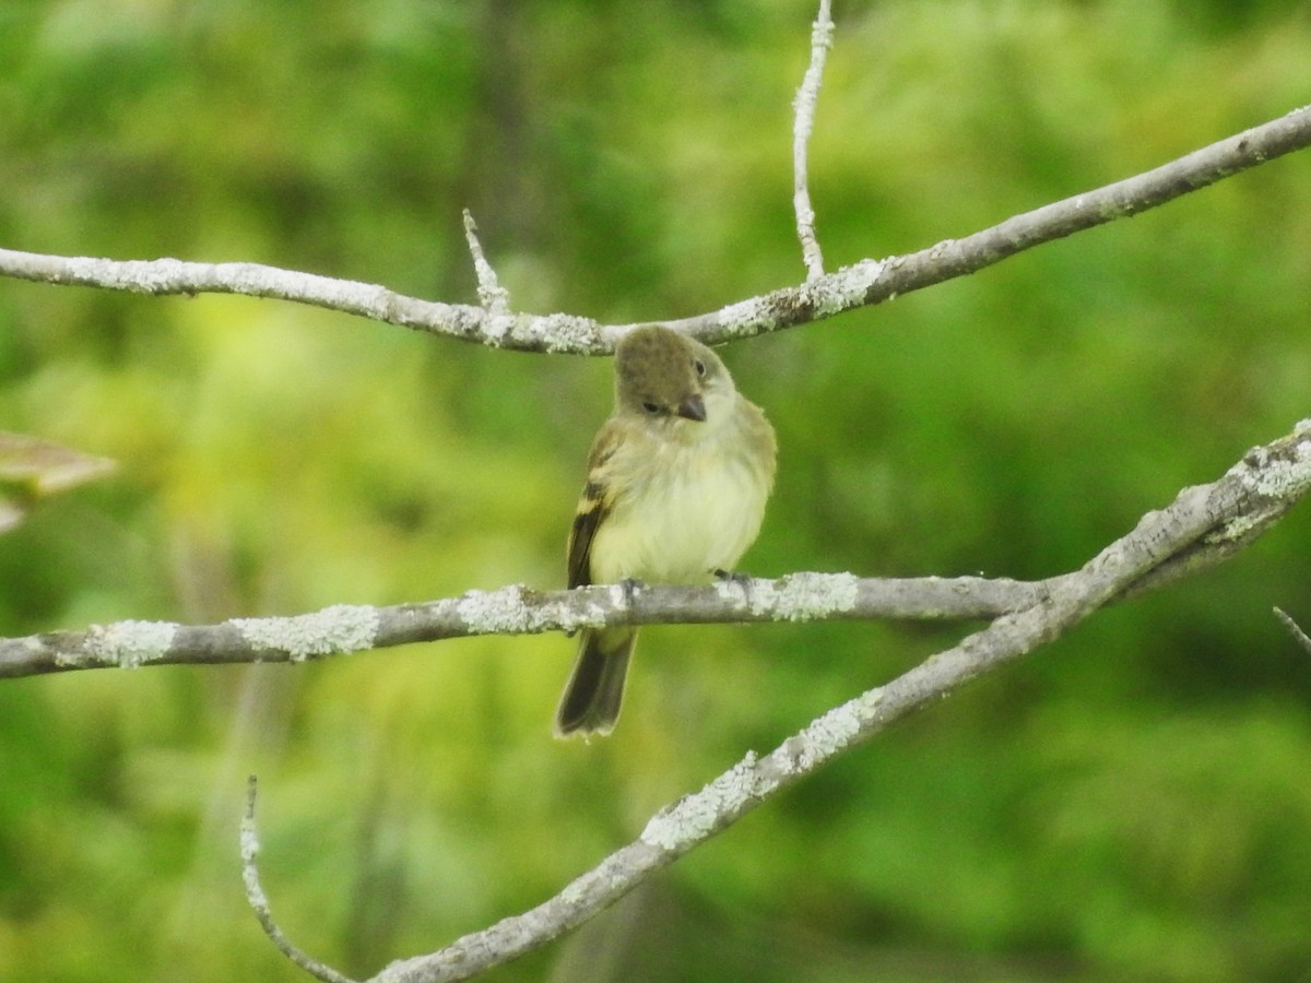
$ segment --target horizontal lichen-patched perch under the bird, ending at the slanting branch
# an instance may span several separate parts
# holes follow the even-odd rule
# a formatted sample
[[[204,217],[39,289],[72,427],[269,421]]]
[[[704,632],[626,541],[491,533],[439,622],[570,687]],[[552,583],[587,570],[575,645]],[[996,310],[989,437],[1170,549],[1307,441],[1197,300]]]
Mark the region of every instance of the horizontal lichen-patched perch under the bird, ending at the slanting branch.
[[[84,668],[304,662],[366,649],[477,634],[576,632],[620,624],[872,619],[987,619],[1033,602],[1042,583],[961,578],[859,578],[796,573],[700,587],[538,591],[511,585],[459,598],[374,607],[334,604],[290,617],[214,625],[117,621],[80,632],[0,638],[0,679]]]

